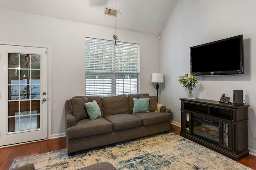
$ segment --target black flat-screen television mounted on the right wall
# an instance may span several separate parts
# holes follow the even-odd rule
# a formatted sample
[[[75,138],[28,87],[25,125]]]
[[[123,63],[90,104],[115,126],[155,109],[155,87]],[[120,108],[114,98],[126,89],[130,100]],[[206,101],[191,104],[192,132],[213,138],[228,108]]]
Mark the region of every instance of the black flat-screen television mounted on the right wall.
[[[190,47],[190,74],[244,74],[243,35]]]

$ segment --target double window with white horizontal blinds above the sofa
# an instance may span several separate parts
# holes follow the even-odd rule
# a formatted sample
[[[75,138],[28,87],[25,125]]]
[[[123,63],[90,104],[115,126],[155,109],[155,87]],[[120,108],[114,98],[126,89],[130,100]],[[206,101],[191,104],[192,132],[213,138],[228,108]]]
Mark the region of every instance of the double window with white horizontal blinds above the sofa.
[[[139,93],[140,45],[85,38],[86,96]]]

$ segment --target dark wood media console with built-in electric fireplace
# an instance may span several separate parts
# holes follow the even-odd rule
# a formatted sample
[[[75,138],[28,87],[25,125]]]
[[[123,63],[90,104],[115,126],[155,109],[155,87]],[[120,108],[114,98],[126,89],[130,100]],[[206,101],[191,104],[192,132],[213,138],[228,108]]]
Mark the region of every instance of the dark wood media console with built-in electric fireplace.
[[[234,160],[249,154],[248,107],[213,100],[181,100],[180,135]]]

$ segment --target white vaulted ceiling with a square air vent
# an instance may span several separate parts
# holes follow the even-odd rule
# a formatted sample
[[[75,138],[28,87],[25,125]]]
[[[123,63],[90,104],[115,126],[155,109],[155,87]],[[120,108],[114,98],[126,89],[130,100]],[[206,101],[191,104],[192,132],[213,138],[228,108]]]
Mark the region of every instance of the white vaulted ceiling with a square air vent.
[[[0,0],[0,8],[111,28],[116,22],[116,29],[160,35],[177,1]],[[117,16],[104,15],[105,7],[118,10]]]

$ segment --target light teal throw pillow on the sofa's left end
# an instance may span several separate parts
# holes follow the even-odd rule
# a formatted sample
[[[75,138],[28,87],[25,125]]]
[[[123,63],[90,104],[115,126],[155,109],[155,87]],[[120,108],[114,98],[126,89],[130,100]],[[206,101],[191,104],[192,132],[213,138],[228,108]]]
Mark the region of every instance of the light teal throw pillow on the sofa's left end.
[[[85,103],[84,106],[91,120],[101,117],[100,107],[98,106],[95,100],[92,102]]]

